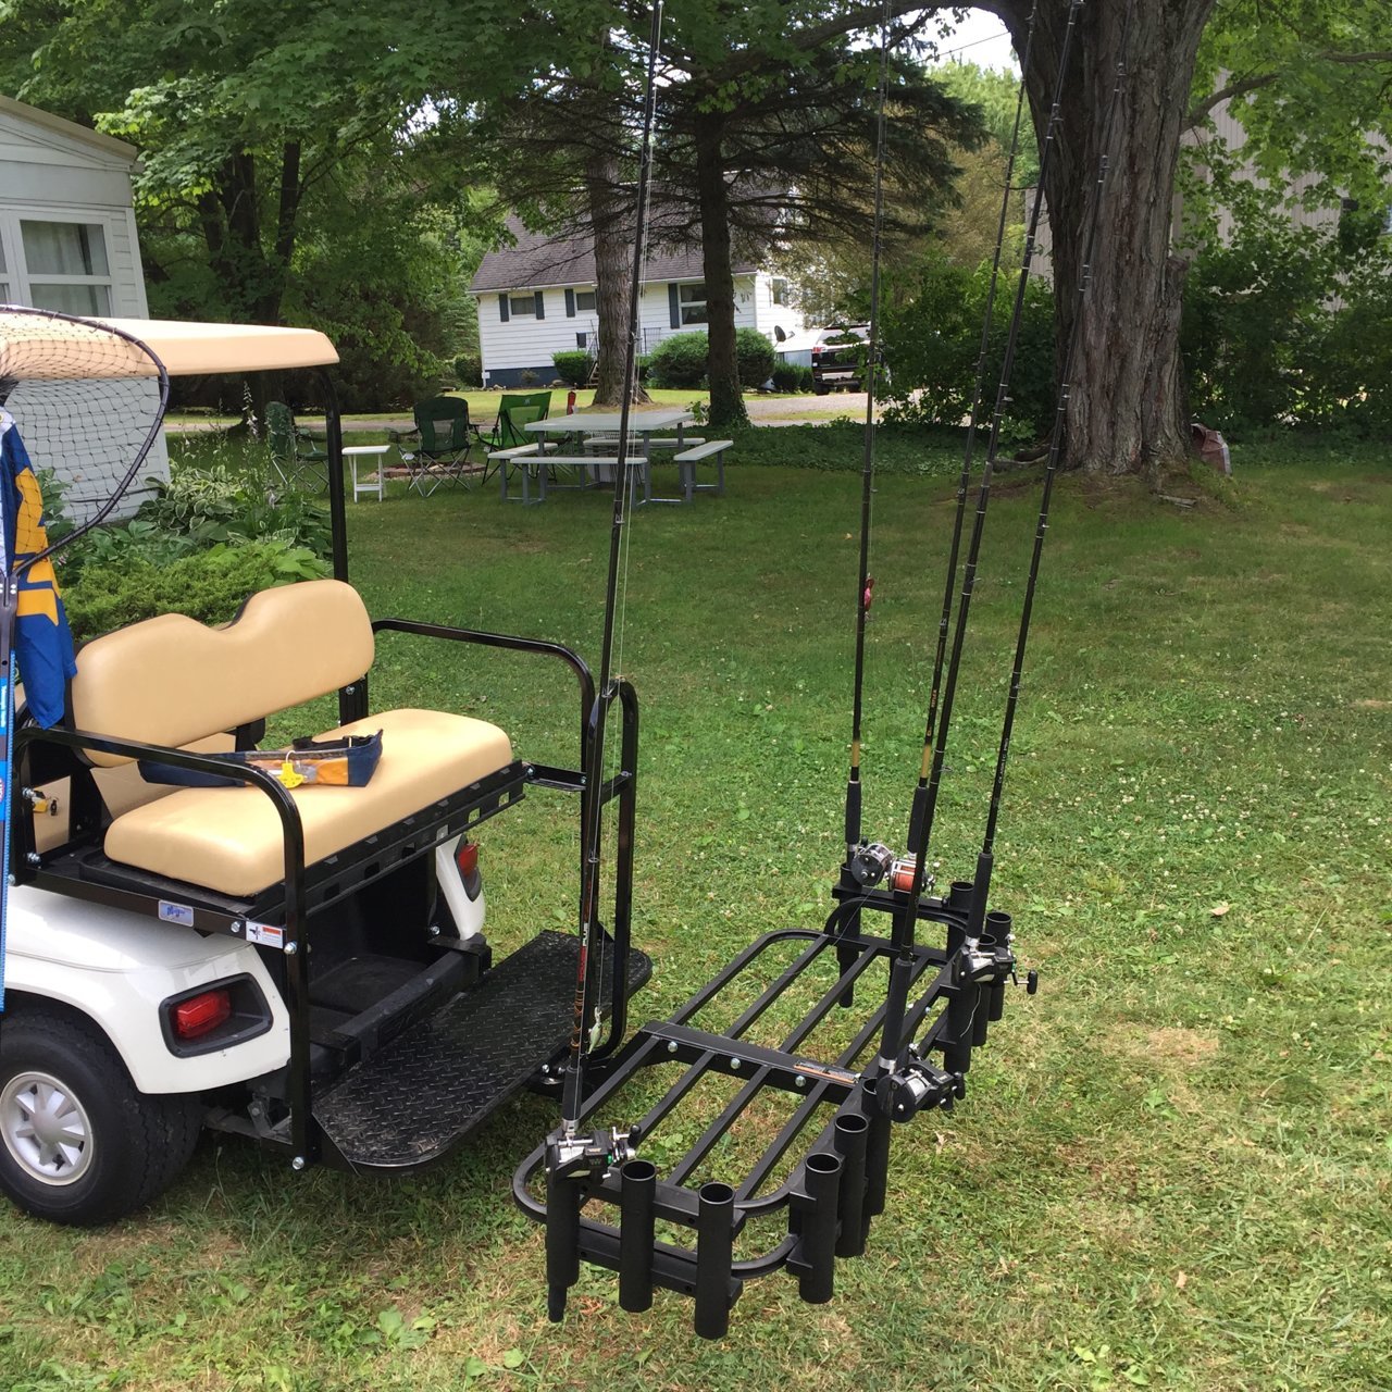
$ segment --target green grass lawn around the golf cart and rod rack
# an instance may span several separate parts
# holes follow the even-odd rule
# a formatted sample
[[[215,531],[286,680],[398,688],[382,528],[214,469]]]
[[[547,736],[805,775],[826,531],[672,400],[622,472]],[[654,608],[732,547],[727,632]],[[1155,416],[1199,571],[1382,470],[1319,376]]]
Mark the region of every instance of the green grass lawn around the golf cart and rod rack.
[[[725,498],[632,522],[622,667],[643,702],[636,933],[681,1001],[754,934],[820,924],[838,860],[859,476],[767,432]],[[780,444],[777,437],[784,438]],[[876,494],[866,828],[902,844],[941,607],[955,441]],[[7,1211],[13,1389],[1392,1386],[1392,466],[1247,447],[1190,509],[1065,479],[1036,606],[995,902],[1016,992],[972,1093],[895,1136],[889,1211],[837,1299],[746,1288],[729,1338],[586,1271],[544,1318],[511,1205],[537,1098],[394,1183],[292,1175],[206,1139],[152,1210],[95,1233]],[[830,462],[830,461],[827,461]],[[926,476],[915,476],[920,472]],[[935,856],[986,812],[1037,483],[992,501]],[[610,505],[491,490],[349,505],[374,614],[597,658]],[[496,720],[575,756],[535,660],[383,639],[374,702]],[[574,809],[483,837],[490,934],[574,916]]]

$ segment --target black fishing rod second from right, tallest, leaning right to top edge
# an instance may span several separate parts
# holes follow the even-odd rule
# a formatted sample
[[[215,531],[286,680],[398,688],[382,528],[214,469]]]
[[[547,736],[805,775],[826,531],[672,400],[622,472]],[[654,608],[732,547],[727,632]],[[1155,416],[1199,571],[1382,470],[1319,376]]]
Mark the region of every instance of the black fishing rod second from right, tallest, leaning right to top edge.
[[[1073,38],[1077,32],[1077,17],[1083,8],[1083,0],[1070,0],[1068,7],[1068,22],[1063,31],[1063,42],[1059,50],[1058,75],[1054,82],[1054,93],[1050,104],[1048,121],[1044,128],[1044,139],[1040,149],[1040,189],[1043,191],[1045,175],[1052,163],[1057,148],[1057,129],[1061,120],[1065,81],[1069,70],[1069,58],[1073,52]],[[1022,79],[1023,81],[1023,79]],[[1005,404],[1009,400],[1011,377],[1015,369],[1015,351],[1019,345],[1020,324],[1025,317],[1025,292],[1029,287],[1030,266],[1034,259],[1034,245],[1038,235],[1040,214],[1044,207],[1043,192],[1034,199],[1030,210],[1029,226],[1025,235],[1025,253],[1020,262],[1019,281],[1015,291],[1015,308],[1011,313],[1009,330],[1005,337],[1005,355],[1001,363],[1001,380],[995,393],[995,406],[991,412],[991,430],[986,444],[986,464],[981,466],[981,480],[977,489],[976,518],[972,525],[972,539],[967,544],[966,564],[962,571],[962,594],[958,601],[956,625],[952,635],[952,653],[948,661],[947,674],[942,683],[941,707],[938,710],[938,727],[935,734],[928,729],[924,735],[923,766],[928,766],[928,749],[933,750],[931,767],[924,777],[920,767],[919,786],[913,793],[913,812],[909,825],[917,835],[909,844],[912,870],[909,885],[902,894],[899,913],[895,919],[894,941],[905,945],[913,941],[915,923],[917,920],[919,896],[923,894],[923,884],[927,867],[928,845],[933,838],[933,821],[937,813],[938,792],[942,786],[942,763],[947,754],[948,732],[952,724],[952,704],[956,697],[958,677],[962,670],[962,647],[966,640],[967,617],[972,610],[972,593],[976,587],[976,568],[981,554],[981,537],[986,530],[986,514],[991,498],[991,475],[995,466],[995,454],[1001,438],[1001,420],[1005,415]],[[983,867],[979,859],[977,880],[973,888],[972,917],[980,927],[981,916],[986,912],[986,892],[981,883]]]

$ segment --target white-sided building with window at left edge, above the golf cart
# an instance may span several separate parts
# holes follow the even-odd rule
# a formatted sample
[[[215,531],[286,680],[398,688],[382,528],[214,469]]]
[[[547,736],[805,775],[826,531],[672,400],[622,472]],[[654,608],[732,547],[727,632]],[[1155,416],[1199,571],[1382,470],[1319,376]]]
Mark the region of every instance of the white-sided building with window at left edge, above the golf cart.
[[[121,141],[0,96],[0,303],[149,317],[131,209],[136,163]],[[168,475],[163,438],[142,475]],[[79,487],[67,497],[74,514],[93,501],[104,500]]]

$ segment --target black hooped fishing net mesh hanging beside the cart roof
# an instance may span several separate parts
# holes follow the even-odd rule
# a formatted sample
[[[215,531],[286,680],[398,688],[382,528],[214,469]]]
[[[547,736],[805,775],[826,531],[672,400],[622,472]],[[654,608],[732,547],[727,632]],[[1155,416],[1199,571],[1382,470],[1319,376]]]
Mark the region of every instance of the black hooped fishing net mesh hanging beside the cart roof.
[[[50,512],[61,498],[74,523],[50,551],[110,516],[143,479],[167,400],[164,367],[138,340],[90,320],[0,308],[7,470],[14,477],[26,458]],[[21,548],[21,564],[36,558]]]

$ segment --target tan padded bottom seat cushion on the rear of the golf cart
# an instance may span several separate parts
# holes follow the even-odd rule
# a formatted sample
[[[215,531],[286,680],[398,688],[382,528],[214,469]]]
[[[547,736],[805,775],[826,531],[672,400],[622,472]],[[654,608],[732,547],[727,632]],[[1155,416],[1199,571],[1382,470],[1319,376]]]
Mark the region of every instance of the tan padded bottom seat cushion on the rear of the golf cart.
[[[487,721],[393,710],[334,735],[380,729],[381,760],[366,788],[296,788],[305,863],[315,864],[512,761]],[[248,898],[285,877],[280,816],[259,788],[181,788],[117,817],[106,853],[152,874]]]

